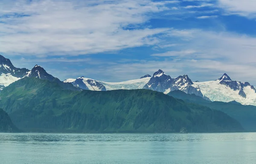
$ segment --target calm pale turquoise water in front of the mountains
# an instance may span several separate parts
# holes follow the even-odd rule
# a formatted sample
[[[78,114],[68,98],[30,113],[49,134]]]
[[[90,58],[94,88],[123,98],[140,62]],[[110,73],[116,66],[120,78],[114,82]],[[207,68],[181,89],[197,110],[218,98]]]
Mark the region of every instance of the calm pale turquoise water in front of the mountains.
[[[256,133],[0,133],[0,164],[255,164]]]

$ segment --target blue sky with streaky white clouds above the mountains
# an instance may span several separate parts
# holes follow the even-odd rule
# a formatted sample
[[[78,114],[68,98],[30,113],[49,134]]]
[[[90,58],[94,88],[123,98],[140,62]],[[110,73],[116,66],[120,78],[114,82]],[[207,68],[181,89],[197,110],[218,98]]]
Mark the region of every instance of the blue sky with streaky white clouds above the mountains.
[[[0,54],[61,80],[162,69],[256,85],[256,0],[0,0]]]

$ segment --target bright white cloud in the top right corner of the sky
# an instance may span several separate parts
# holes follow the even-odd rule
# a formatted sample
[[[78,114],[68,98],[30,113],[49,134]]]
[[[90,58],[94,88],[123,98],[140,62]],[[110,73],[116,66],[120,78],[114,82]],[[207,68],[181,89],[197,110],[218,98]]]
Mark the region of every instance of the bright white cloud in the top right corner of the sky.
[[[218,7],[223,8],[227,14],[256,17],[256,0],[218,0]]]

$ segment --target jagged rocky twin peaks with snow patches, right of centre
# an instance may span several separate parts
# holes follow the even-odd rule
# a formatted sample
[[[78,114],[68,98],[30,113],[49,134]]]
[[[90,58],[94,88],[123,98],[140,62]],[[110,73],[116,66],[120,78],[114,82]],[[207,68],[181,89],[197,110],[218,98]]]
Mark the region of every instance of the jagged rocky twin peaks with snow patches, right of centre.
[[[195,85],[187,75],[172,78],[162,70],[154,73],[149,82],[144,86],[144,89],[156,90],[165,94],[174,90],[181,90],[187,94],[195,94],[209,100],[201,93],[198,85]]]

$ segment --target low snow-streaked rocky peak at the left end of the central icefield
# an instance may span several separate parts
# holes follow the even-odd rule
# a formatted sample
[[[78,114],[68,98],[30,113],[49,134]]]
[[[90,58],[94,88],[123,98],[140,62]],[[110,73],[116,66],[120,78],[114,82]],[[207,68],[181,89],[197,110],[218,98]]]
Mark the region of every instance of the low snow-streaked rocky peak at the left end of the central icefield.
[[[76,87],[79,87],[84,90],[97,90],[97,91],[106,91],[104,85],[101,82],[98,82],[93,79],[85,78],[84,76],[77,79],[66,79],[64,82],[69,82]]]

